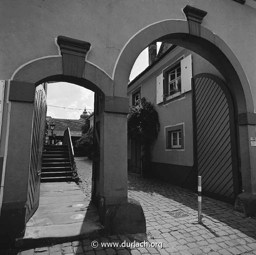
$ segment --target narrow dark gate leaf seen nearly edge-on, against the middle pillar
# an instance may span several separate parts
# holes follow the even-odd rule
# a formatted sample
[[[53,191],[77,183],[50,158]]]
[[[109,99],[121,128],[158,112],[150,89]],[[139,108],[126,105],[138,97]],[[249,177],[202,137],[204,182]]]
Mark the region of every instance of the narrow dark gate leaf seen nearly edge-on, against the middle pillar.
[[[104,95],[94,94],[93,119],[93,169],[92,169],[92,201],[99,205],[99,171],[100,171],[100,142],[101,121],[104,112]]]

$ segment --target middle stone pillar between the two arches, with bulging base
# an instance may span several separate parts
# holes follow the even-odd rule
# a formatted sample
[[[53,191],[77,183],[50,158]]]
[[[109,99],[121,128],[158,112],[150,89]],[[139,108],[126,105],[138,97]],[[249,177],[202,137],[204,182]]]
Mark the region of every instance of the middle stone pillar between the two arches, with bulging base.
[[[112,233],[146,232],[143,209],[127,197],[126,97],[105,96],[101,133],[100,222]]]

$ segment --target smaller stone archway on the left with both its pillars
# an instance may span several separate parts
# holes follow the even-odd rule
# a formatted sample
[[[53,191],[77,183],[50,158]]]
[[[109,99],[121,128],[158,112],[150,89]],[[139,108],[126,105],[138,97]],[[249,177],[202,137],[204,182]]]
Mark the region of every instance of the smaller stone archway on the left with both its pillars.
[[[78,40],[68,39],[74,47],[81,43]],[[72,49],[70,51],[74,53]],[[5,239],[13,241],[14,238],[23,236],[26,229],[31,153],[28,148],[31,147],[35,87],[44,81],[66,81],[96,92],[98,95],[96,103],[99,103],[100,110],[96,112],[95,119],[100,122],[101,153],[99,179],[93,182],[97,187],[93,189],[92,200],[99,208],[100,222],[109,233],[145,232],[145,217],[140,204],[127,197],[127,128],[125,127],[128,98],[114,96],[113,80],[104,71],[86,62],[85,55],[81,70],[76,70],[72,74],[65,73],[63,69],[67,64],[65,61],[76,66],[77,59],[74,57],[65,60],[65,52],[61,54],[62,56],[41,58],[24,65],[15,72],[8,84],[11,135],[6,143],[8,153],[4,169],[6,176],[0,221]],[[78,71],[80,75],[77,75]],[[15,190],[13,190],[14,183]],[[14,204],[15,208],[12,208]],[[134,213],[131,214],[131,211]]]

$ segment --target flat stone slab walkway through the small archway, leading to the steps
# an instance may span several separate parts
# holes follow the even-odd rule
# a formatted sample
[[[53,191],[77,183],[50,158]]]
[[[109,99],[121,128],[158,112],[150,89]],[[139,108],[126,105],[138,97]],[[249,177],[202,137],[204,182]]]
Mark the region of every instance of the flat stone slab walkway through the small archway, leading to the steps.
[[[40,195],[44,196],[40,197],[38,210],[27,222],[25,236],[17,239],[16,247],[45,246],[105,234],[98,210],[89,197],[75,183],[58,186],[57,189],[63,188],[62,196],[59,190],[52,191],[56,188],[55,183],[42,185]],[[72,194],[69,188],[73,188]],[[54,193],[57,196],[52,196]]]

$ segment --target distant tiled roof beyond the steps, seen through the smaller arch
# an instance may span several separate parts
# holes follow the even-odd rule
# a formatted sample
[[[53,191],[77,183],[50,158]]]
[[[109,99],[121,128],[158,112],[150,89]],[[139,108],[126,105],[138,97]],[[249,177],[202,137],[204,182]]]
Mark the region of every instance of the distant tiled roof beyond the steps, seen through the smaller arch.
[[[84,125],[84,119],[54,119],[51,117],[46,117],[48,127],[48,136],[52,135],[52,131],[50,129],[50,124],[55,124],[53,133],[56,136],[63,136],[64,131],[69,127],[71,136],[81,136],[82,134],[82,125]]]

